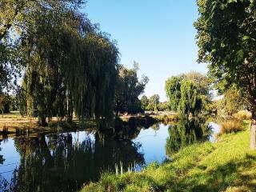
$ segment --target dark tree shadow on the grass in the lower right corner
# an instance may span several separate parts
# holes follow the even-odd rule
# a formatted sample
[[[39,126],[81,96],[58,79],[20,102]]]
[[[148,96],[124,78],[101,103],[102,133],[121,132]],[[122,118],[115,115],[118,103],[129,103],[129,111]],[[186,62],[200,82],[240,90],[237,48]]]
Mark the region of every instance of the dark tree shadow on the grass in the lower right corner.
[[[244,158],[230,161],[207,170],[197,166],[196,171],[170,185],[170,191],[256,191],[256,157],[246,154]],[[233,187],[233,188],[231,188]]]

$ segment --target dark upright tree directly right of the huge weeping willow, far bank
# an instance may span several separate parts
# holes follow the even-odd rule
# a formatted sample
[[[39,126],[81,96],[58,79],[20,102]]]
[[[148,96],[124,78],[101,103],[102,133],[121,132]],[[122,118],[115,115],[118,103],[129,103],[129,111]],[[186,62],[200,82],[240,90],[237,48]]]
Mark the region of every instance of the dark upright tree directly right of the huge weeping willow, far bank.
[[[133,69],[119,66],[119,78],[117,82],[115,111],[117,113],[135,114],[142,111],[138,96],[144,93],[149,78],[142,76],[138,80],[138,63],[134,62]]]

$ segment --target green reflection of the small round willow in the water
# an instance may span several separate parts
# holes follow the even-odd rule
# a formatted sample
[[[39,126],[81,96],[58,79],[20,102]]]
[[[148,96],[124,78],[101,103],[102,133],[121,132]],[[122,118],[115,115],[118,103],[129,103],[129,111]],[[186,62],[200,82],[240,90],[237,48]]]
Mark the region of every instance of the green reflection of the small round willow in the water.
[[[211,134],[211,128],[204,118],[185,118],[182,116],[174,126],[169,126],[169,138],[166,140],[166,154],[172,156],[184,146],[194,142],[206,141]]]

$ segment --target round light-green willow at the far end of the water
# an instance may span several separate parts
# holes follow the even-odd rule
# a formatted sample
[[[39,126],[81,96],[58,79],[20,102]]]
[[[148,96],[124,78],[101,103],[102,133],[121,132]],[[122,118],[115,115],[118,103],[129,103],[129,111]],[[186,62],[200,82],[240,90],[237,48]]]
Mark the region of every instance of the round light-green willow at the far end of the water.
[[[171,110],[182,114],[198,114],[206,110],[211,99],[208,79],[193,71],[169,78],[166,81],[166,94]]]

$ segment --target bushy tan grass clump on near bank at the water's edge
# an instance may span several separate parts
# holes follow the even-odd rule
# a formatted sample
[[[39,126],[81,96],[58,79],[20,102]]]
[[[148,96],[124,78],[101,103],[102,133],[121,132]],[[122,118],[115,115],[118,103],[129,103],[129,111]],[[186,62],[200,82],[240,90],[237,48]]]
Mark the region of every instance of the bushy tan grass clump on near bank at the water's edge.
[[[233,119],[227,120],[226,122],[222,122],[220,134],[236,133],[242,130],[244,130],[242,121],[237,118],[233,118]]]

